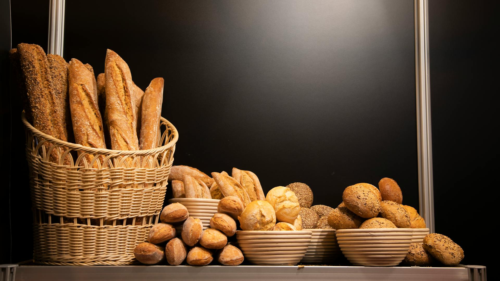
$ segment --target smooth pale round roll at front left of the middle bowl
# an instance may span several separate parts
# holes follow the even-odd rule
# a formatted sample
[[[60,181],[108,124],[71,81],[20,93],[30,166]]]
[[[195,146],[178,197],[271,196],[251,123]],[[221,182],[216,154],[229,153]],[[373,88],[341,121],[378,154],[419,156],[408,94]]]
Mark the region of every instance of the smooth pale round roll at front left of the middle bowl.
[[[276,214],[269,202],[255,200],[246,205],[238,220],[242,230],[270,230],[276,224]]]

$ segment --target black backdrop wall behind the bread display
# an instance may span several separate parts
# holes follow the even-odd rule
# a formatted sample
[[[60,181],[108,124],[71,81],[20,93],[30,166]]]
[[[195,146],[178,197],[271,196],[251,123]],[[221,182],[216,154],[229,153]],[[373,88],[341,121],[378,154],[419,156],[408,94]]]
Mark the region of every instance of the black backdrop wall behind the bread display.
[[[111,6],[66,2],[64,56],[97,73],[111,48],[140,87],[163,76],[163,116],[180,132],[176,164],[250,169],[266,190],[304,181],[314,203],[329,205],[348,184],[391,176],[417,206],[412,1]],[[492,196],[471,190],[493,185],[498,166],[491,11],[486,1],[429,0],[436,230],[464,247],[465,264],[489,264],[490,231],[463,230],[490,225]],[[12,1],[12,44],[46,49],[47,13],[47,2]],[[11,147],[22,150],[16,120]],[[22,165],[22,153],[12,162]],[[31,220],[25,173],[12,175],[18,262],[30,258]]]

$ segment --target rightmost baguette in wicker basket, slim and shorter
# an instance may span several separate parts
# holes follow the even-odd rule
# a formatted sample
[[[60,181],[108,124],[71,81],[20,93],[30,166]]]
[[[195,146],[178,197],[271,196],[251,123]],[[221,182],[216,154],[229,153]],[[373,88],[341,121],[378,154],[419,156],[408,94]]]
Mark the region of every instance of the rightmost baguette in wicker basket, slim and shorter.
[[[134,92],[138,92],[139,90],[140,89],[135,89]],[[136,99],[138,98],[140,97],[136,97]],[[142,97],[139,141],[139,147],[141,150],[152,149],[158,146],[160,133],[159,117],[161,115],[162,102],[163,78],[158,77],[151,80]]]

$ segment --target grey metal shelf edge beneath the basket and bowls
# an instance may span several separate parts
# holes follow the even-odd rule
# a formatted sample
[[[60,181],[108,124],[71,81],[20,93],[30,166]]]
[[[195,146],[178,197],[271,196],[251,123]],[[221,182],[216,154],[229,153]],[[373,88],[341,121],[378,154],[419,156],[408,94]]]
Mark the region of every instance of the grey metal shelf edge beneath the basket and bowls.
[[[19,265],[21,280],[469,280],[465,267],[364,266],[45,266]]]

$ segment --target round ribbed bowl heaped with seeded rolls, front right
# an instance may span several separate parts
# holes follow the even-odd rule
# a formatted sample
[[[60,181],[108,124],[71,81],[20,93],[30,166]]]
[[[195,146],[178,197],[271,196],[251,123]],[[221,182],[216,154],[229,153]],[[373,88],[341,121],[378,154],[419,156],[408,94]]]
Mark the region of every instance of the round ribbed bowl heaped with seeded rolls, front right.
[[[337,229],[343,255],[354,265],[394,266],[408,253],[413,228]]]

